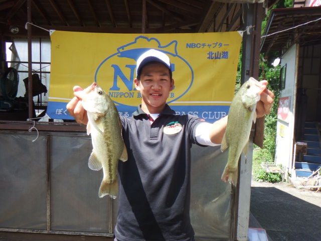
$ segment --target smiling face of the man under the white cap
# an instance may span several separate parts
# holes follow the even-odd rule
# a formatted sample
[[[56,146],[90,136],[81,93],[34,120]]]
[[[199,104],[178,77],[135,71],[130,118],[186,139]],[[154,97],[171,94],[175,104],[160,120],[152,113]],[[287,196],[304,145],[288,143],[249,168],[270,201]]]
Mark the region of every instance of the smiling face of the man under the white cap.
[[[161,113],[174,87],[170,70],[162,63],[147,64],[141,69],[140,80],[135,79],[134,82],[142,97],[142,110],[146,113]]]

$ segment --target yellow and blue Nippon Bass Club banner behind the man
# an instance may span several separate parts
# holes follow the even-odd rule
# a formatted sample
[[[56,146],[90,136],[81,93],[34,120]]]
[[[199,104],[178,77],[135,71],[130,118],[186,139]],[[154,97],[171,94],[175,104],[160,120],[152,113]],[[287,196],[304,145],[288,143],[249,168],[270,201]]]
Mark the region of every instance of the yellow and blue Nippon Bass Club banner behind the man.
[[[194,114],[215,122],[227,115],[242,36],[239,32],[196,34],[101,34],[54,31],[51,34],[51,79],[47,114],[73,119],[66,104],[73,86],[96,81],[130,116],[141,102],[135,89],[138,57],[157,49],[170,57],[174,90],[168,104],[178,114]]]

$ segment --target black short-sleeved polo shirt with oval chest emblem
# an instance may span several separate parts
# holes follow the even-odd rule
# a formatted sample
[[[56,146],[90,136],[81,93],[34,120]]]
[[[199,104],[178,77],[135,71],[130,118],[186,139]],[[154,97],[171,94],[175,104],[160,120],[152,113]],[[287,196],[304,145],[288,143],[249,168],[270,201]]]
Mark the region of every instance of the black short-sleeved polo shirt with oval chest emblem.
[[[115,236],[125,240],[190,240],[191,147],[204,120],[166,105],[151,124],[138,106],[121,117],[128,160],[118,163]]]

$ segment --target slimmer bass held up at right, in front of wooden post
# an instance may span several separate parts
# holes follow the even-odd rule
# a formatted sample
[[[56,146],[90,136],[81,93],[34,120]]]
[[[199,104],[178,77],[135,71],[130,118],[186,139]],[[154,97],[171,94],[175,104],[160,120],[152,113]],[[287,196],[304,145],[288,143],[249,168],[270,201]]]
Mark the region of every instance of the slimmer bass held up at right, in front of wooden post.
[[[221,145],[221,151],[229,148],[229,153],[221,179],[224,182],[229,181],[234,186],[237,185],[240,155],[243,151],[246,157],[252,121],[256,121],[256,103],[265,88],[265,84],[250,77],[235,94],[230,106]]]

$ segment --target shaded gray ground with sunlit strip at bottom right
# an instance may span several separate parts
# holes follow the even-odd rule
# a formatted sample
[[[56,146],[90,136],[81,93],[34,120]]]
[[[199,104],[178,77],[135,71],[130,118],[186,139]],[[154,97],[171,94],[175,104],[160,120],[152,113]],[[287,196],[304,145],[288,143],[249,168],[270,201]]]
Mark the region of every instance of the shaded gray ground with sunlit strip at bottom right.
[[[321,240],[321,192],[253,180],[251,186],[250,211],[269,241]]]

